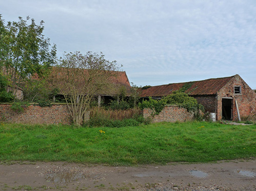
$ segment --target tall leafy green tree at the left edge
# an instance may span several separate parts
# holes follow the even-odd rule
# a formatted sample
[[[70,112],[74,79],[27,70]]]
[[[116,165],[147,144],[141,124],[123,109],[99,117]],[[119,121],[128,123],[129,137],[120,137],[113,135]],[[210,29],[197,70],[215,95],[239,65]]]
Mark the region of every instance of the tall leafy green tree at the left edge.
[[[5,26],[0,15],[0,73],[10,82],[6,91],[13,95],[30,76],[44,76],[55,63],[56,45],[51,47],[50,39],[43,35],[43,23],[36,25],[33,18],[19,17],[18,22],[9,21]]]

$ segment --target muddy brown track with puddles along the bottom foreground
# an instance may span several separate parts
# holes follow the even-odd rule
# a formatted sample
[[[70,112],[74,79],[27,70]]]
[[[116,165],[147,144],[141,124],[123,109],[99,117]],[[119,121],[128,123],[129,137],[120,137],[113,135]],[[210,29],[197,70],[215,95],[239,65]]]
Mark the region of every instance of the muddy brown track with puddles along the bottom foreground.
[[[107,166],[0,164],[0,190],[256,190],[256,160]]]

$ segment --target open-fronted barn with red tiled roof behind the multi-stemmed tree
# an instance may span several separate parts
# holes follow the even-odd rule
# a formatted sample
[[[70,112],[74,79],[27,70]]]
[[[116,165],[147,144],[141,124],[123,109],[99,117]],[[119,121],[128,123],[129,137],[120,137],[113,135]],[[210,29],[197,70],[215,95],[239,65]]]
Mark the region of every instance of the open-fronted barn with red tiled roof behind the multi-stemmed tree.
[[[125,91],[127,96],[131,94],[132,88],[125,71],[99,71],[99,74],[97,74],[95,72],[90,73],[89,69],[52,67],[47,81],[51,87],[62,87],[62,90],[65,91],[64,93],[68,94],[70,92],[70,87],[66,86],[64,81],[69,81],[68,73],[76,76],[77,70],[81,70],[83,77],[81,79],[75,79],[75,88],[78,91],[81,89],[81,93],[85,93],[84,91],[88,91],[86,93],[93,93],[94,96],[97,97],[99,106],[101,105],[101,102],[109,103],[114,97],[120,94],[121,90]],[[34,77],[34,79],[36,78],[37,77]],[[92,85],[91,82],[88,82],[91,79],[93,79],[92,81],[95,81],[95,84],[97,81],[105,81],[102,83],[104,86],[99,86],[97,89],[94,88],[93,91],[91,91],[90,86],[84,88],[89,84]],[[62,94],[63,92],[60,91],[57,96],[62,96]]]

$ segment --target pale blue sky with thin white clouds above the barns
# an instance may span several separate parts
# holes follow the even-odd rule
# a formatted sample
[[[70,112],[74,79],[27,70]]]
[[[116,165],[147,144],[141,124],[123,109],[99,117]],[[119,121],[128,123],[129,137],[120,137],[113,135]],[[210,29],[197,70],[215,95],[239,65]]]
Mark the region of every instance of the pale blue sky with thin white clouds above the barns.
[[[239,74],[256,89],[255,0],[0,0],[64,52],[103,52],[137,86]]]

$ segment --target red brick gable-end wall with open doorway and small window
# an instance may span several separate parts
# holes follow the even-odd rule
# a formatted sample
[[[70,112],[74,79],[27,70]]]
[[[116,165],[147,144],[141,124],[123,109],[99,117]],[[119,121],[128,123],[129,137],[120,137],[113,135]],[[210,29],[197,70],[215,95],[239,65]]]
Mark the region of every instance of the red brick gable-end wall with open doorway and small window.
[[[234,86],[241,86],[241,93],[234,93]],[[222,99],[232,99],[232,120],[238,120],[238,112],[235,107],[235,100],[238,102],[241,117],[256,114],[256,93],[246,84],[239,76],[235,75],[219,92],[218,92],[218,110],[216,113],[217,120],[222,119]]]

